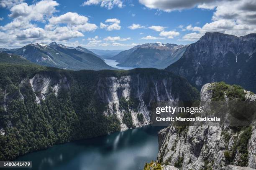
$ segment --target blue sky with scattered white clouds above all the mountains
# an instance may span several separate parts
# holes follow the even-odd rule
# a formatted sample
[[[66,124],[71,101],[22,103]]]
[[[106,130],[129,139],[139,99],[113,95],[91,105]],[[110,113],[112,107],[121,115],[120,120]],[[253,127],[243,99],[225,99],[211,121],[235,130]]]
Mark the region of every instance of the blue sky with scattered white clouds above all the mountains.
[[[53,41],[117,50],[256,33],[256,0],[0,0],[0,47]]]

